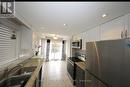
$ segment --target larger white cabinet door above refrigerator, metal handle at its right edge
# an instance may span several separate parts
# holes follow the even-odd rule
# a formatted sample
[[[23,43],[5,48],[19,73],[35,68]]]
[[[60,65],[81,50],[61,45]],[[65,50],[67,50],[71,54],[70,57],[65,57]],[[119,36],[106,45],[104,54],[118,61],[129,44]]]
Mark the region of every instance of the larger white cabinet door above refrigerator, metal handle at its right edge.
[[[119,17],[101,25],[101,40],[120,39],[125,28],[125,17]]]

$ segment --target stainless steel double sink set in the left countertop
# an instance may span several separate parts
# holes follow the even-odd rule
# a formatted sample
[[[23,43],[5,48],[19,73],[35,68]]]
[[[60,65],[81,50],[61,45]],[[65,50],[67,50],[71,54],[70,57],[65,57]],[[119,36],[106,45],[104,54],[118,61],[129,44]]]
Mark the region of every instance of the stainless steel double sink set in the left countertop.
[[[23,67],[17,65],[6,71],[6,76],[0,81],[0,87],[24,87],[36,66]]]

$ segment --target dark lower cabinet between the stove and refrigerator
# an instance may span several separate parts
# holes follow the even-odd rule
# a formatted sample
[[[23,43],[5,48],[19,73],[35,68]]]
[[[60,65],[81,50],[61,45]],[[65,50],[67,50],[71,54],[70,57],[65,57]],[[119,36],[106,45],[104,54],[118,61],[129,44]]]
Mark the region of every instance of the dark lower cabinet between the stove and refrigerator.
[[[85,87],[85,71],[76,66],[76,87]]]

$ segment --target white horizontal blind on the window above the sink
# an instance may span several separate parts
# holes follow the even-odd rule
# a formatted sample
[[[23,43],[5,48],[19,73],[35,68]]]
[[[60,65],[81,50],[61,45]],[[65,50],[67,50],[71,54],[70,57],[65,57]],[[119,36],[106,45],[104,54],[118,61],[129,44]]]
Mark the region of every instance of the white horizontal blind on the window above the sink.
[[[11,39],[14,30],[0,24],[0,65],[15,59],[16,39]]]

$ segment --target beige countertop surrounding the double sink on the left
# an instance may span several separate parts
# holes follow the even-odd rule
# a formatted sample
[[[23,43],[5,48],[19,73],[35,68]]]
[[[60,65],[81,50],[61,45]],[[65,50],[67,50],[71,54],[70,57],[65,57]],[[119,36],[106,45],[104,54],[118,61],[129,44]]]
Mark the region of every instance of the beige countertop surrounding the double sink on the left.
[[[10,71],[13,67],[16,67],[17,65],[21,65],[23,68],[36,67],[35,70],[32,72],[31,77],[28,79],[27,83],[24,86],[24,87],[33,87],[33,85],[35,84],[35,80],[37,79],[39,72],[42,66],[44,65],[43,59],[42,58],[29,58],[29,59],[24,59],[24,60],[22,59],[15,60],[11,62],[10,64],[8,64],[8,66],[1,69],[0,80],[5,78],[5,75],[7,74],[7,70]]]

